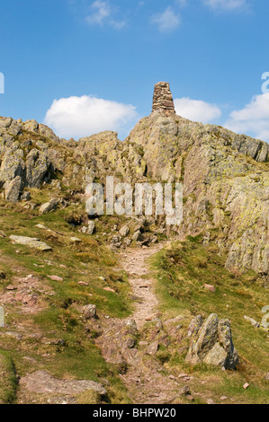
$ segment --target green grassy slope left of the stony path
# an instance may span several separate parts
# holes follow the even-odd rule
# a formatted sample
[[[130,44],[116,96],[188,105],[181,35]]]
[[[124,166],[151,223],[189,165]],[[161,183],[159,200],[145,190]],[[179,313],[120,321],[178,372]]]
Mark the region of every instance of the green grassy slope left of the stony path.
[[[49,198],[46,191],[32,194],[36,195],[33,198],[36,203]],[[0,347],[4,349],[4,357],[1,352],[0,368],[4,365],[4,375],[0,377],[0,401],[16,400],[15,367],[20,376],[44,369],[59,378],[98,382],[100,378],[112,377],[112,398],[108,397],[108,400],[128,402],[117,368],[103,360],[99,348],[94,345],[96,333],[85,331],[80,311],[85,304],[94,303],[99,315],[117,318],[130,315],[130,287],[125,273],[114,269],[117,267],[115,255],[97,236],[77,233],[76,228],[67,223],[68,208],[39,215],[38,209],[26,210],[20,204],[6,204],[0,200],[0,215],[0,231],[6,236],[0,236],[0,272],[4,273],[0,280],[0,295],[6,292],[6,286],[13,284],[13,277],[29,274],[40,280],[40,289],[53,293],[40,295],[38,292],[43,310],[37,313],[22,313],[11,303],[4,305],[7,330],[22,330],[23,338],[18,341],[4,336],[4,329],[1,329]],[[37,228],[36,224],[44,224],[52,232]],[[9,239],[11,234],[37,237],[48,243],[52,251],[40,252],[14,245]],[[74,244],[71,237],[79,237],[82,242]],[[52,281],[49,275],[62,277],[63,281]],[[87,286],[79,285],[80,281]],[[104,287],[111,287],[115,293],[104,291]],[[63,339],[64,345],[48,344],[50,340],[58,339]]]

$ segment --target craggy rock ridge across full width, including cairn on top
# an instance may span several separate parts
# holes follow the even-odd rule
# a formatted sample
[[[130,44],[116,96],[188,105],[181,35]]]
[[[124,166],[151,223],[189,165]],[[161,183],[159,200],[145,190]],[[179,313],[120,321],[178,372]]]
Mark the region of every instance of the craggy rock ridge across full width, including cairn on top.
[[[167,83],[156,85],[152,113],[123,142],[111,131],[66,141],[35,120],[0,118],[0,192],[8,201],[22,200],[31,188],[48,184],[58,190],[58,198],[66,189],[83,195],[88,183],[103,183],[107,175],[132,185],[182,182],[184,218],[175,227],[181,238],[202,233],[205,243],[215,242],[225,254],[229,270],[253,269],[268,283],[265,142],[176,116]],[[84,227],[85,233],[91,230]],[[143,241],[141,233],[134,236]],[[115,238],[113,243],[122,242]]]

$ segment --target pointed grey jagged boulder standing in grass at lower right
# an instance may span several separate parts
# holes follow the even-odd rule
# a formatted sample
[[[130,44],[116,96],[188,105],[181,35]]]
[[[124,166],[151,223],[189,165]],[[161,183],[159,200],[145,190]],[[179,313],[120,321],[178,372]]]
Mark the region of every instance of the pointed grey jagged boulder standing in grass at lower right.
[[[201,323],[200,316],[196,322]],[[190,365],[205,363],[224,369],[236,369],[239,363],[238,352],[233,345],[230,321],[219,321],[218,315],[212,313],[199,330],[193,330],[186,363]]]

